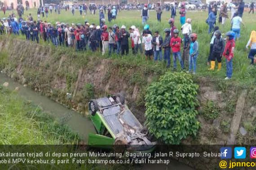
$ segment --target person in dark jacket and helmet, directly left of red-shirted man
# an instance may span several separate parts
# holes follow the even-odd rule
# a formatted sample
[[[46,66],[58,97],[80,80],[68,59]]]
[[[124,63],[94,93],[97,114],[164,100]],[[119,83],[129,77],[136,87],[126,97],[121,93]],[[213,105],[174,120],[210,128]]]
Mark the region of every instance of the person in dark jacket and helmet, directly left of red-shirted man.
[[[165,32],[165,38],[163,41],[163,60],[166,62],[167,61],[167,68],[170,67],[171,64],[171,59],[170,59],[170,55],[171,55],[171,46],[170,46],[170,42],[171,42],[171,30],[169,28],[166,28],[163,30],[163,32]]]

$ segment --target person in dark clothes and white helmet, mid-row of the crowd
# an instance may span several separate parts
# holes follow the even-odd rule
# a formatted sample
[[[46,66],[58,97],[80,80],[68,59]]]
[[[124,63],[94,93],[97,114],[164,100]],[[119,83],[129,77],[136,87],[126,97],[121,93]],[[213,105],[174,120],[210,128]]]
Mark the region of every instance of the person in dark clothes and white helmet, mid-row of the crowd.
[[[130,37],[130,34],[125,29],[126,29],[125,26],[121,26],[121,31],[120,31],[121,55],[124,55],[124,51],[126,52],[126,55],[128,55],[129,53],[128,38]]]

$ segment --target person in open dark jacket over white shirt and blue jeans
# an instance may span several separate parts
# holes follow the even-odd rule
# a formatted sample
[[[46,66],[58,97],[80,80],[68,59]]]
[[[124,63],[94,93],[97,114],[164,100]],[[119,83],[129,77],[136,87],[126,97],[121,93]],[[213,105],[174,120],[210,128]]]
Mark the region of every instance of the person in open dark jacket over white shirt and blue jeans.
[[[163,38],[159,35],[158,31],[154,32],[152,44],[154,45],[154,61],[162,61]]]

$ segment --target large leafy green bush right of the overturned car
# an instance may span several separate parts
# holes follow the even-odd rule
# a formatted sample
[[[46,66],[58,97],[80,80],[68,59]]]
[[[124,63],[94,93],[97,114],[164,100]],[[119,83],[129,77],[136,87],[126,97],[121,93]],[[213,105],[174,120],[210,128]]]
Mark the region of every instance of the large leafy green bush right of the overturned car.
[[[192,76],[182,72],[166,72],[150,85],[146,94],[149,132],[166,144],[179,144],[187,136],[195,136],[199,129],[197,90]]]

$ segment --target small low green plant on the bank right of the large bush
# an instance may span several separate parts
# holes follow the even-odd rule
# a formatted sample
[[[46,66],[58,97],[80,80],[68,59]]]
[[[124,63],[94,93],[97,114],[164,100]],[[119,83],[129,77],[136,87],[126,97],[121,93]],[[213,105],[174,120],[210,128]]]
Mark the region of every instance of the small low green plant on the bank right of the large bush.
[[[220,109],[213,101],[207,101],[203,106],[203,117],[206,119],[216,119],[219,116]]]

